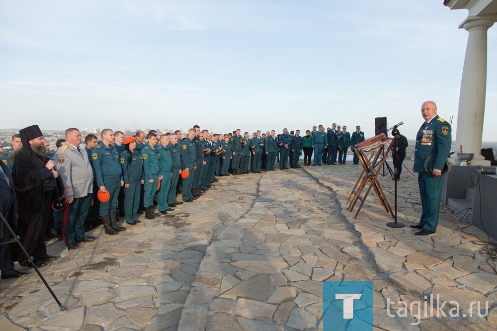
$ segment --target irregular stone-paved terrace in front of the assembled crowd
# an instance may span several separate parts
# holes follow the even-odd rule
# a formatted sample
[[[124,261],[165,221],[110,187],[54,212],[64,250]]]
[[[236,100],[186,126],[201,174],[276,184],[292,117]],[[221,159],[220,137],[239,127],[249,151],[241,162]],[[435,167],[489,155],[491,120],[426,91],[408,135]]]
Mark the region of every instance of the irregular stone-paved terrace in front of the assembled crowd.
[[[375,330],[495,330],[497,276],[472,242],[485,236],[464,233],[442,208],[437,235],[415,237],[421,206],[406,170],[398,206],[408,227],[386,227],[392,219],[371,194],[354,220],[345,202],[360,172],[347,164],[220,177],[172,215],[118,236],[95,229],[99,239],[71,256],[52,242],[61,258],[40,270],[68,310],[31,270],[2,281],[0,330],[323,330],[325,280],[372,280]],[[394,182],[380,182],[393,206]],[[429,294],[457,300],[461,317],[436,318],[429,302],[419,321],[398,316],[399,301]],[[470,318],[472,301],[488,301],[488,316],[473,306]]]

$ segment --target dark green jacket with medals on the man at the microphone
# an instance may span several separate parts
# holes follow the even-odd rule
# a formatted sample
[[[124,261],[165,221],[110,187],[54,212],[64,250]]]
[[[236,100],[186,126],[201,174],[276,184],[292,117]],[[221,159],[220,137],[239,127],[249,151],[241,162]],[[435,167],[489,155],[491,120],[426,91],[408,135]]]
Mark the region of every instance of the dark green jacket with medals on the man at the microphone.
[[[435,115],[428,125],[423,123],[416,135],[414,171],[426,172],[424,161],[431,154],[436,154],[433,168],[442,170],[449,157],[451,145],[452,129],[446,120]]]

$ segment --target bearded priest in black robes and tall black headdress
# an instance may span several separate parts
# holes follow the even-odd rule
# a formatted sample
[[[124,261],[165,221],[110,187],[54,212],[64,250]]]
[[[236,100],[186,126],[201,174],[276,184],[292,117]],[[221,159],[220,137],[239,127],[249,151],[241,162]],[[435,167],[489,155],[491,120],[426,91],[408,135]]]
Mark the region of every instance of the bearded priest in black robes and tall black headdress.
[[[14,154],[14,187],[19,203],[17,234],[27,252],[34,257],[38,267],[56,259],[47,254],[45,231],[50,206],[56,190],[55,163],[47,158],[46,140],[38,125],[19,131],[22,148]],[[22,266],[31,266],[23,253],[17,252]],[[14,255],[16,256],[16,255]]]

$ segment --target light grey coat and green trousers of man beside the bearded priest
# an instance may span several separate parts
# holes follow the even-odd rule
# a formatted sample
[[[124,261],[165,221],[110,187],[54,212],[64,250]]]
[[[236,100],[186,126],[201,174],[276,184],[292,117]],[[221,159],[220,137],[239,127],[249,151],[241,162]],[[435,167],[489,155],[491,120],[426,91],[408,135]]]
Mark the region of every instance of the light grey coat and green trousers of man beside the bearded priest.
[[[55,152],[55,167],[59,172],[64,193],[62,197],[73,196],[73,202],[65,204],[67,215],[66,238],[69,244],[83,241],[84,221],[91,204],[93,193],[93,170],[88,155],[79,146],[64,142]]]

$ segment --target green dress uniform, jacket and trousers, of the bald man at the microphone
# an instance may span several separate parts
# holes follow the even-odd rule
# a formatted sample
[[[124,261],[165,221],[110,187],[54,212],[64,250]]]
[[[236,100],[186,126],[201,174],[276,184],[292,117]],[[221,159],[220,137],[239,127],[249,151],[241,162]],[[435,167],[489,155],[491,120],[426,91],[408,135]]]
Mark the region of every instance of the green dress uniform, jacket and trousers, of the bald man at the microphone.
[[[423,123],[416,135],[414,171],[418,172],[417,182],[423,210],[419,224],[429,232],[435,232],[438,225],[443,178],[430,177],[424,168],[424,161],[429,155],[435,154],[433,168],[442,170],[449,156],[451,144],[450,124],[438,115]]]

